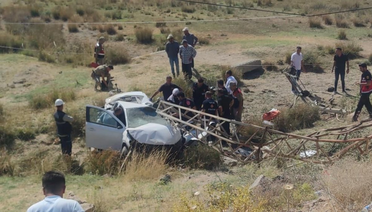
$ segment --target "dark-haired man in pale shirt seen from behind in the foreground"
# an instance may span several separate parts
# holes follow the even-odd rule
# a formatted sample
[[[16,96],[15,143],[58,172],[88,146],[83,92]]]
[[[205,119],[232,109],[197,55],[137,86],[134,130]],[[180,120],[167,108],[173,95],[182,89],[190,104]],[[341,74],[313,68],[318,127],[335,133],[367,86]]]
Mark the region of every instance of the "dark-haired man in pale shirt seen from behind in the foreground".
[[[63,199],[66,190],[65,177],[58,171],[48,171],[42,179],[45,199],[33,204],[27,212],[85,212],[72,199]]]

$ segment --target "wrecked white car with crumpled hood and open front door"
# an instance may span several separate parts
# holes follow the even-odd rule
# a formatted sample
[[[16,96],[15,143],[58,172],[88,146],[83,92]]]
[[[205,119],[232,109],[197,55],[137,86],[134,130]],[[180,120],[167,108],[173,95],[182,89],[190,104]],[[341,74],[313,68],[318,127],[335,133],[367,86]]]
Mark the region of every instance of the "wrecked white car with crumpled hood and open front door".
[[[126,155],[133,147],[167,148],[179,151],[185,143],[180,129],[162,118],[155,108],[118,100],[112,108],[120,107],[121,116],[112,110],[86,106],[86,146],[95,149],[121,151]]]

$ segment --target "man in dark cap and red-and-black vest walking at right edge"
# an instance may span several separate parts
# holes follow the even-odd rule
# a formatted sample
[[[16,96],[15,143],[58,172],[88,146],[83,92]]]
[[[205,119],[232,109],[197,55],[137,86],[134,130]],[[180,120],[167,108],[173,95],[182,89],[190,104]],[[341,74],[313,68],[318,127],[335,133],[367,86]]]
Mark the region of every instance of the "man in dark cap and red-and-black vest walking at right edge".
[[[362,111],[363,105],[366,106],[367,111],[369,113],[369,118],[372,118],[372,105],[371,101],[369,100],[369,95],[372,92],[372,82],[371,82],[371,73],[367,69],[367,64],[362,63],[359,64],[359,69],[362,72],[362,77],[360,78],[360,82],[355,83],[356,85],[360,85],[360,99],[358,105],[355,110],[355,114],[353,116],[353,121],[357,121],[360,111]]]

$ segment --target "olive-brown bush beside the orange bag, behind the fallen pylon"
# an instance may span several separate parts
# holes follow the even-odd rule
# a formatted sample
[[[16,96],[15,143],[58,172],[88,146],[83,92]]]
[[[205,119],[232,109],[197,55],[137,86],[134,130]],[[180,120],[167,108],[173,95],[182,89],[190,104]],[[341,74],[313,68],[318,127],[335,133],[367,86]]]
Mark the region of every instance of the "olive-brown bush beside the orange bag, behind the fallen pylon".
[[[275,128],[281,132],[313,127],[315,121],[320,120],[319,108],[305,104],[297,104],[292,108],[284,108],[275,118]]]

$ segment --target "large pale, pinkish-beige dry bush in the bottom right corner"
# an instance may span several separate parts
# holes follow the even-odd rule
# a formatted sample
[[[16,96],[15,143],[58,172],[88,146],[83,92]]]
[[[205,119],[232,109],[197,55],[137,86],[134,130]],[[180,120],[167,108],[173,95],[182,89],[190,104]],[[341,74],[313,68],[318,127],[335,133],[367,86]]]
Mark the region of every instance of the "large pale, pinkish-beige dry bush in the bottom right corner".
[[[321,185],[329,190],[339,211],[360,211],[371,203],[372,162],[357,162],[350,159],[339,162],[321,175]]]

